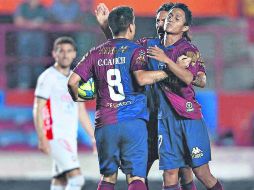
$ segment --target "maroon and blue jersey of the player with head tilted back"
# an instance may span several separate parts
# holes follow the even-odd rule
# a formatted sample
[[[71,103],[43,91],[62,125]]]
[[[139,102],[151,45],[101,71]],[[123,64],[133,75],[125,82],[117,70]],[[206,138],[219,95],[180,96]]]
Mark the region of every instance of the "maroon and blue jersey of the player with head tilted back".
[[[186,55],[191,58],[191,63],[187,68],[195,77],[198,72],[205,73],[204,62],[201,58],[199,50],[185,38],[180,39],[170,47],[164,48],[164,51],[174,62],[181,55]],[[160,83],[161,87],[174,107],[175,111],[183,117],[190,119],[202,118],[201,106],[195,98],[193,85],[186,85],[174,74],[170,74],[169,79]]]

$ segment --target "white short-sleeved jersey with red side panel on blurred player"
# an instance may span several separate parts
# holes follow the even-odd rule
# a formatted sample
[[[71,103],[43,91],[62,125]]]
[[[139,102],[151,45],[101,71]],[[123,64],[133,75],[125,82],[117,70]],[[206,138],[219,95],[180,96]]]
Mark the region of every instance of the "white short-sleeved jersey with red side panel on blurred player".
[[[68,79],[53,66],[38,78],[35,96],[47,100],[43,122],[48,139],[77,138],[78,105],[68,92]]]

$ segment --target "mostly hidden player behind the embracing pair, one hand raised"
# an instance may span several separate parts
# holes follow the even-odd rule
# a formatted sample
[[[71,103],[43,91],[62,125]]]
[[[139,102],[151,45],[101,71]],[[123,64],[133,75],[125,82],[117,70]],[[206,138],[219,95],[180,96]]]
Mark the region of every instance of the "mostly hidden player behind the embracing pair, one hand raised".
[[[164,22],[168,15],[168,11],[173,7],[173,3],[166,3],[163,4],[157,11],[156,11],[156,31],[157,31],[157,38],[142,38],[137,41],[138,44],[142,45],[145,48],[148,48],[149,46],[156,46],[160,45],[162,43],[163,37],[164,37]],[[96,10],[96,18],[98,23],[100,24],[100,27],[102,31],[104,32],[105,36],[110,39],[112,38],[112,35],[110,33],[109,27],[108,27],[108,14],[109,10],[106,7],[105,4],[100,3]],[[149,60],[149,62],[151,62]],[[182,55],[178,59],[178,64],[181,65],[183,68],[187,68],[190,64],[190,59],[187,58],[187,56]],[[152,63],[148,65],[149,70],[158,70],[158,66],[153,66]],[[205,73],[200,71],[196,77],[196,80],[193,81],[193,84],[198,87],[204,87],[206,84],[206,76]],[[154,85],[146,86],[147,88],[147,97],[148,97],[148,108],[150,112],[149,116],[149,122],[147,125],[148,128],[148,165],[147,165],[147,175],[149,173],[150,168],[152,167],[155,160],[158,159],[158,144],[156,143],[158,141],[158,117],[161,116],[161,111],[158,111],[159,109],[159,99],[158,99],[158,93],[162,93],[161,91],[156,90],[156,87]],[[167,103],[167,102],[165,102]],[[158,116],[158,114],[160,114]],[[180,182],[182,185],[183,190],[188,189],[196,189],[195,184],[193,182],[193,175],[191,168],[184,167],[180,169],[179,176]]]

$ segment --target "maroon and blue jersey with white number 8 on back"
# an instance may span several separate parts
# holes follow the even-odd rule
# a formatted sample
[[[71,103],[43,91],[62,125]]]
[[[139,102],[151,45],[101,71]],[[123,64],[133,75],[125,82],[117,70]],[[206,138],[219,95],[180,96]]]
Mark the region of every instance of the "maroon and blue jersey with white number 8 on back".
[[[92,49],[74,69],[95,80],[95,127],[130,119],[148,119],[147,100],[133,72],[147,69],[146,49],[127,39],[110,39]]]

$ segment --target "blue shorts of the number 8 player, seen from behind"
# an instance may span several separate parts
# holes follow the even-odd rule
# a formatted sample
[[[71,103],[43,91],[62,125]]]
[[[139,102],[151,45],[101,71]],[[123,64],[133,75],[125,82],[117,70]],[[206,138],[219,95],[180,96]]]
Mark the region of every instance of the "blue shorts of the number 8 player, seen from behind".
[[[123,121],[95,129],[100,173],[146,177],[147,129],[142,119]]]

